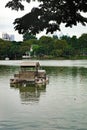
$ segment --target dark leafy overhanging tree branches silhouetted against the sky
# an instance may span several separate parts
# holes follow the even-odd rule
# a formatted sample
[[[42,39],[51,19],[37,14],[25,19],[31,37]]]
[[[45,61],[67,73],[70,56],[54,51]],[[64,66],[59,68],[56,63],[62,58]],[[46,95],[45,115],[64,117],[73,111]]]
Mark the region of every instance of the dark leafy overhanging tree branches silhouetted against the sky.
[[[6,7],[15,10],[24,10],[23,1],[30,3],[31,0],[11,0]],[[36,1],[36,0],[33,0]],[[81,23],[86,25],[87,18],[81,12],[87,12],[87,0],[38,0],[40,5],[28,14],[14,21],[15,30],[20,34],[28,32],[36,34],[46,29],[46,33],[60,30],[60,24],[72,27]]]

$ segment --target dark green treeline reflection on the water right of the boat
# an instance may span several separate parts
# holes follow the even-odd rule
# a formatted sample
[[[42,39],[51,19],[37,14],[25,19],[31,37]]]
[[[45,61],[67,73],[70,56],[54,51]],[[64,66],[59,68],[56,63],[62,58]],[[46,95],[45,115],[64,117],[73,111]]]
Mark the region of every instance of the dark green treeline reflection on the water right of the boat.
[[[45,67],[47,74],[50,76],[66,76],[70,75],[72,77],[86,76],[87,68],[84,67]]]

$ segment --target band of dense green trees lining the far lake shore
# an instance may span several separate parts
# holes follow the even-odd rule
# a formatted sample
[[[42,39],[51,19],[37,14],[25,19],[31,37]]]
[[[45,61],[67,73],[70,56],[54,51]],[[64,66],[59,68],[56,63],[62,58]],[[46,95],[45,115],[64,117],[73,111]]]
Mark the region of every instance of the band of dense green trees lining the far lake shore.
[[[62,36],[60,39],[42,36],[39,40],[30,39],[23,42],[0,39],[0,59],[21,59],[26,53],[35,58],[86,58],[87,34],[79,38]]]

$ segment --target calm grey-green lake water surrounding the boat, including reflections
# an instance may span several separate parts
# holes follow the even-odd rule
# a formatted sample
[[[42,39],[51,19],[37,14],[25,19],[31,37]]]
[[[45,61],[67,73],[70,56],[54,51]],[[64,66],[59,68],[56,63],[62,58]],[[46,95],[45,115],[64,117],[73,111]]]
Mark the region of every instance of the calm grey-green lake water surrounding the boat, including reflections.
[[[87,60],[40,61],[43,87],[10,86],[21,61],[0,61],[0,130],[87,130]]]

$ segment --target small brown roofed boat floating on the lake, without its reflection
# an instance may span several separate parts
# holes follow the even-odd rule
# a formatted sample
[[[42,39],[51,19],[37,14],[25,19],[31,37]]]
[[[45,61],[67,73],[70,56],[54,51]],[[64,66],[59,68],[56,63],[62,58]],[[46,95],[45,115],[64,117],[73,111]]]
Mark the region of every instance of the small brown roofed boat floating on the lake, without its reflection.
[[[39,62],[22,62],[18,74],[10,79],[11,84],[29,83],[29,84],[46,84],[48,77],[45,70],[40,69]]]

